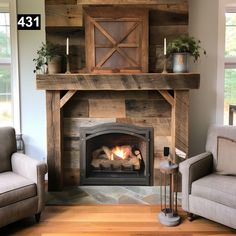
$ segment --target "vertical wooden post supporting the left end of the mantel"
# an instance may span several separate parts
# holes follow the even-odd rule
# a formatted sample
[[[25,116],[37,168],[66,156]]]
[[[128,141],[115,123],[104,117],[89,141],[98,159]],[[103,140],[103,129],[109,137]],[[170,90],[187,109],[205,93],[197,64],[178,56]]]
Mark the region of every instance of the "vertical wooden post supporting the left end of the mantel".
[[[46,109],[48,191],[57,191],[63,187],[60,91],[46,91]]]

